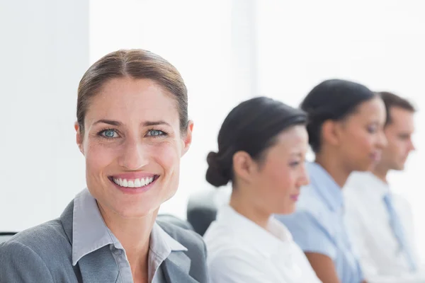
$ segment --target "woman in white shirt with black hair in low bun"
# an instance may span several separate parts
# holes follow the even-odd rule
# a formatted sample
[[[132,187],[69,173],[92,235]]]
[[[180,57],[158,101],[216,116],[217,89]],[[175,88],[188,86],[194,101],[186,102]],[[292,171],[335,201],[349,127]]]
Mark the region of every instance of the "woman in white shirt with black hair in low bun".
[[[229,205],[205,233],[212,283],[320,282],[273,214],[290,214],[307,185],[304,112],[271,98],[237,105],[222,124],[206,178],[232,182]]]

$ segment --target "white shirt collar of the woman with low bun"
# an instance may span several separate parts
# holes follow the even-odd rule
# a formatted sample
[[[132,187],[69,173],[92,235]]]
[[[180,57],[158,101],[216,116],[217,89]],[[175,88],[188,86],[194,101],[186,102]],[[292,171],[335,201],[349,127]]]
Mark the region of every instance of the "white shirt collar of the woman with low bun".
[[[220,208],[217,214],[217,221],[229,226],[238,235],[240,234],[242,241],[248,242],[250,246],[256,248],[259,253],[266,257],[278,253],[279,247],[283,245],[284,241],[292,241],[292,236],[288,229],[274,219],[273,216],[268,223],[270,232],[242,216],[229,205]]]

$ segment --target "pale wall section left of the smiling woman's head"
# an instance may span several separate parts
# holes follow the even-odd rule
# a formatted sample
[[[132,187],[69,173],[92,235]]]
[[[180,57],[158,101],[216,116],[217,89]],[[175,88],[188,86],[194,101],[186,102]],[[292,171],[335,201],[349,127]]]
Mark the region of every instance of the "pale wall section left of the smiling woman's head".
[[[0,4],[0,231],[20,231],[59,216],[84,185],[73,124],[89,5]]]

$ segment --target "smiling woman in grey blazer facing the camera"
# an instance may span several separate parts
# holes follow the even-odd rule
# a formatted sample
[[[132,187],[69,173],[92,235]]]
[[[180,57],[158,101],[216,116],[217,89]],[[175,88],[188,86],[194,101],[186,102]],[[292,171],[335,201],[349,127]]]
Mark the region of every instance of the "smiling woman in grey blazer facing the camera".
[[[162,57],[120,50],[86,71],[77,144],[87,189],[0,245],[0,282],[207,282],[200,236],[157,223],[191,144],[186,86]]]

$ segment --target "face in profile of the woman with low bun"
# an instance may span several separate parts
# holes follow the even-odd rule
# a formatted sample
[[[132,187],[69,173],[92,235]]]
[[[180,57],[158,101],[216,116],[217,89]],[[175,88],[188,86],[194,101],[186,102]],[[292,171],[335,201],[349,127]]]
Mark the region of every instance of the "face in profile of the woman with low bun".
[[[256,166],[252,181],[256,189],[252,199],[271,214],[290,214],[300,195],[300,187],[309,179],[305,170],[308,134],[303,125],[287,129]]]

